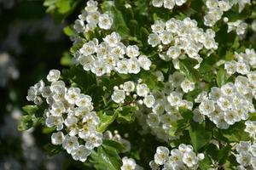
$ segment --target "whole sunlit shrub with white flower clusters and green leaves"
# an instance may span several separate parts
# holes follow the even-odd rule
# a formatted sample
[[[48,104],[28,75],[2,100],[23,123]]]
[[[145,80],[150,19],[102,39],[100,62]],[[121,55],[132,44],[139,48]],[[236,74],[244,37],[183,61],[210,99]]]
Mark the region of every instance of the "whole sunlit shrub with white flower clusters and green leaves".
[[[29,88],[20,130],[90,169],[256,168],[255,1],[64,2],[44,5],[80,12],[69,67]]]

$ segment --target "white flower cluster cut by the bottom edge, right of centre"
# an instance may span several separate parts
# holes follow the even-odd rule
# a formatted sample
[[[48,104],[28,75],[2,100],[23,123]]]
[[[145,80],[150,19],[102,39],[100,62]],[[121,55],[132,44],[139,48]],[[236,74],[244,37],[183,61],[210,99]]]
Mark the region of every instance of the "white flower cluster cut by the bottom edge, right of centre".
[[[154,161],[149,162],[152,170],[161,169],[197,169],[204,154],[196,155],[191,145],[179,144],[178,149],[168,150],[159,146],[154,154]]]

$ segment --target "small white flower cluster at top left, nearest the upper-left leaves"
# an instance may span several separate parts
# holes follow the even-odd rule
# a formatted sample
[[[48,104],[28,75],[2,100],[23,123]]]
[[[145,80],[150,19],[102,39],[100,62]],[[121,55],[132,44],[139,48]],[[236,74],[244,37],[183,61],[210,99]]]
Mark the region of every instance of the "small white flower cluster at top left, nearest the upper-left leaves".
[[[87,24],[84,24],[84,21],[86,21]],[[96,26],[99,26],[103,30],[109,30],[112,25],[113,18],[110,14],[101,14],[100,11],[98,11],[98,3],[94,0],[90,0],[87,2],[82,14],[79,14],[79,19],[75,20],[73,28],[78,33],[84,33],[93,31]]]

